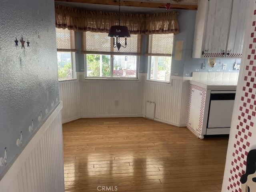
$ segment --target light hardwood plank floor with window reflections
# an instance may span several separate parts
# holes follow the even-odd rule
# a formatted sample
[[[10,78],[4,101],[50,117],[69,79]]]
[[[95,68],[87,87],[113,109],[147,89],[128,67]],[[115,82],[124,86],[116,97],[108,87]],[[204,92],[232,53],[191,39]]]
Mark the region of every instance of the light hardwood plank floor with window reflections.
[[[64,124],[63,145],[67,192],[220,192],[228,138],[200,140],[144,118],[94,118]]]

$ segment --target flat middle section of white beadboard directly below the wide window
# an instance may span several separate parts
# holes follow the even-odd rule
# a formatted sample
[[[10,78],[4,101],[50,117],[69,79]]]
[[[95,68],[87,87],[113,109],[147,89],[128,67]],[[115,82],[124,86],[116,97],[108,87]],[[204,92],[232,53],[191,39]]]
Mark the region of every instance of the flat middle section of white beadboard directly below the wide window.
[[[86,80],[80,92],[82,118],[142,116],[140,80]]]

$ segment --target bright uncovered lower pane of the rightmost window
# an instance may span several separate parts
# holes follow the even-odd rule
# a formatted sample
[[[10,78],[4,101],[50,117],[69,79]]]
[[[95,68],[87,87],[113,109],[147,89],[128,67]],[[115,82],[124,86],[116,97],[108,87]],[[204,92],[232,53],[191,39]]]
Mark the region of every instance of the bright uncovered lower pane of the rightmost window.
[[[151,56],[150,79],[170,82],[171,57]]]

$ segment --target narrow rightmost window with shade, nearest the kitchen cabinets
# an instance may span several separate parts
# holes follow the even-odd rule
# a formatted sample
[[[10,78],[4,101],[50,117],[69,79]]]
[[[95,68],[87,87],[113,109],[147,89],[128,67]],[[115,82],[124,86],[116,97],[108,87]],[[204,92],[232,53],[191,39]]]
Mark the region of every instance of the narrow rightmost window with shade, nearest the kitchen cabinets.
[[[173,34],[152,34],[148,39],[148,79],[170,82]]]

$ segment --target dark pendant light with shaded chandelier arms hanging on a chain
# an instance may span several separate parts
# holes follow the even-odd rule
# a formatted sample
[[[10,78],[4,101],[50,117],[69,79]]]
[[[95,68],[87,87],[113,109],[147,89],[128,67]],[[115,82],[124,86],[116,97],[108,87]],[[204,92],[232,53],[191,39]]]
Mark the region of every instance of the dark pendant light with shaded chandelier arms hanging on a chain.
[[[126,26],[120,26],[120,16],[121,16],[121,12],[120,12],[120,0],[119,0],[119,11],[118,11],[118,25],[114,25],[110,27],[109,30],[109,37],[113,37],[113,46],[114,48],[117,47],[118,52],[119,49],[121,47],[126,48],[127,42],[126,42],[126,38],[130,37],[130,32],[128,30],[128,27]],[[124,37],[125,38],[125,46],[120,44],[120,37]],[[116,40],[115,40],[116,38]]]

